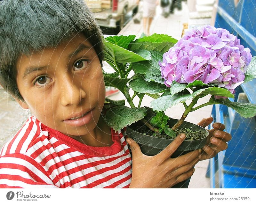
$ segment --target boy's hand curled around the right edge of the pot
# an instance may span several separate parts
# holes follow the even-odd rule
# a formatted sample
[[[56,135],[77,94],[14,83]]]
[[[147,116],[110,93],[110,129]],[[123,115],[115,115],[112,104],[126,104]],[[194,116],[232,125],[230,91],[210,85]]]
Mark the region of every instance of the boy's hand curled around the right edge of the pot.
[[[197,125],[205,128],[206,126],[212,123],[213,118],[204,118]],[[201,153],[202,157],[200,160],[210,159],[215,157],[218,152],[223,151],[228,148],[228,142],[231,140],[231,135],[227,132],[224,132],[225,125],[215,122],[213,123],[213,129],[209,130],[209,136],[207,139],[206,145],[202,148],[203,151]]]

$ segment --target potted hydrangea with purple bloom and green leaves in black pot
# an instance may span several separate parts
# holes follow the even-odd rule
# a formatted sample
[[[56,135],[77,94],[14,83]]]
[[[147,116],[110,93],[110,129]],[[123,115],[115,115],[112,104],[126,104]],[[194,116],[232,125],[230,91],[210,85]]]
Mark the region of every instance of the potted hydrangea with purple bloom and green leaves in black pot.
[[[164,34],[135,37],[105,38],[105,61],[115,70],[104,73],[105,84],[119,89],[131,106],[106,98],[106,122],[115,131],[127,127],[127,135],[140,144],[142,153],[159,153],[181,132],[186,140],[173,157],[202,148],[208,131],[184,120],[203,106],[223,104],[242,117],[256,115],[256,105],[228,99],[234,98],[238,85],[256,78],[256,57],[227,30],[205,25],[188,31],[179,41]],[[209,94],[207,103],[196,106],[199,98]],[[141,107],[145,95],[154,99],[151,108]],[[185,112],[180,120],[170,119],[164,111],[178,103]]]

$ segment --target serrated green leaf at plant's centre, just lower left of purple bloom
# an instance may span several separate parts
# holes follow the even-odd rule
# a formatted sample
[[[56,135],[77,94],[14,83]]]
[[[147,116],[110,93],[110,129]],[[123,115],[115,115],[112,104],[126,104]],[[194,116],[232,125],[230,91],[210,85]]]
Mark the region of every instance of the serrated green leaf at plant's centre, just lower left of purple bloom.
[[[133,91],[138,92],[139,94],[155,94],[167,89],[167,87],[162,84],[145,81],[144,77],[142,77],[141,75],[135,75],[133,79],[129,82],[129,87],[131,87]]]

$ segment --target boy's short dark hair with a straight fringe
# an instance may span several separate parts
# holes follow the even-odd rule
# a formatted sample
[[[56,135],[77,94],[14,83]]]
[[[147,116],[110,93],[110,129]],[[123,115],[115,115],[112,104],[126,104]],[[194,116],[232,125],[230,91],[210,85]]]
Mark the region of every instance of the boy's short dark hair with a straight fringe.
[[[0,1],[0,84],[23,100],[14,67],[21,54],[56,47],[77,33],[94,47],[101,66],[103,37],[84,0],[3,0]]]

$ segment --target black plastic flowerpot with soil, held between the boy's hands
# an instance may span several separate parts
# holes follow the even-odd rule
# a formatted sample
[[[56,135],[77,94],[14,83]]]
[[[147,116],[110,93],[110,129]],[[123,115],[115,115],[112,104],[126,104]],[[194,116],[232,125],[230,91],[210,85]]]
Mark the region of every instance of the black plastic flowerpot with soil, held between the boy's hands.
[[[169,127],[172,127],[178,120],[171,119],[168,123]],[[184,130],[187,128],[187,130]],[[178,129],[178,128],[177,128]],[[189,136],[188,133],[194,132]],[[171,156],[172,158],[184,155],[190,151],[202,148],[207,141],[208,131],[198,125],[183,122],[177,133],[185,133],[186,139],[182,142],[176,152]],[[196,133],[196,134],[195,134]],[[201,134],[203,133],[203,134]],[[134,139],[139,145],[143,154],[148,156],[153,156],[161,152],[165,147],[167,147],[173,139],[170,139],[168,135],[156,135],[155,132],[150,130],[141,121],[133,123],[131,126],[126,128],[127,137]],[[156,135],[156,136],[155,136]],[[193,135],[197,139],[191,140]],[[198,137],[200,137],[198,139]],[[190,178],[172,186],[172,188],[188,188]]]

